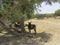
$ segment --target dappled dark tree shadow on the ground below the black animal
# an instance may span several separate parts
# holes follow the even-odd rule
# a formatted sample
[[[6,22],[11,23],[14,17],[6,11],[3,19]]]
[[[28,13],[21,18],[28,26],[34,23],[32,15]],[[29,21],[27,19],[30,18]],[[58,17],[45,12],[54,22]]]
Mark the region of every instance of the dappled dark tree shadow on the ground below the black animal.
[[[16,33],[5,34],[0,36],[0,45],[44,45],[49,42],[52,34],[41,32],[37,34]]]

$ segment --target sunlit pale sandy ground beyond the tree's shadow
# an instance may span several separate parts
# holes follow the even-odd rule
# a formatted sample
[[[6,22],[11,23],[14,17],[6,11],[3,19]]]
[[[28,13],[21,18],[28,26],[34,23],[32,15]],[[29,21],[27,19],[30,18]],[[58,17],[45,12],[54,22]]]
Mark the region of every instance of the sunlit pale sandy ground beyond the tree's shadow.
[[[25,45],[60,45],[60,19],[54,19],[54,18],[42,19],[42,20],[31,19],[28,21],[32,21],[32,23],[36,25],[37,33],[46,32],[52,34],[52,36],[51,36],[51,40],[47,43],[42,44],[42,42],[38,42],[36,44],[36,42],[33,42],[33,44],[25,44]],[[28,21],[26,21],[25,23],[27,23]],[[34,33],[33,30],[32,33]],[[11,44],[12,42],[14,44]],[[12,41],[12,42],[9,42],[10,43],[9,45],[24,45],[21,44],[19,41],[18,42]],[[4,43],[1,45],[4,45]]]

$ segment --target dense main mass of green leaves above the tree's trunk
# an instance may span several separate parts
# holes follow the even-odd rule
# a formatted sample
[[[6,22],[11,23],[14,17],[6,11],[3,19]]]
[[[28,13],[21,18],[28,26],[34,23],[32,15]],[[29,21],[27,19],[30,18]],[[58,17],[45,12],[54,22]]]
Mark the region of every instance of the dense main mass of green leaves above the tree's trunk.
[[[29,0],[18,0],[18,3],[15,3],[16,2],[14,2],[14,0],[3,1],[5,14],[10,20],[20,18],[22,15],[25,15],[28,18],[31,17],[34,8],[33,4]]]

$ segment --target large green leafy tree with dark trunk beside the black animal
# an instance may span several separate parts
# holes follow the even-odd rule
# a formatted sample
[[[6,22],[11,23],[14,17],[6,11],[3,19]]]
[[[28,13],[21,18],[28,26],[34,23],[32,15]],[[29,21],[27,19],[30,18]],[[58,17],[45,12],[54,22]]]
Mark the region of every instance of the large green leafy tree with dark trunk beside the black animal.
[[[21,19],[21,30],[24,32],[24,17],[30,16],[34,13],[36,6],[40,6],[43,1],[46,1],[47,4],[51,2],[57,2],[58,0],[2,0],[4,9],[3,17],[10,21],[16,21]]]

